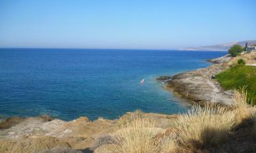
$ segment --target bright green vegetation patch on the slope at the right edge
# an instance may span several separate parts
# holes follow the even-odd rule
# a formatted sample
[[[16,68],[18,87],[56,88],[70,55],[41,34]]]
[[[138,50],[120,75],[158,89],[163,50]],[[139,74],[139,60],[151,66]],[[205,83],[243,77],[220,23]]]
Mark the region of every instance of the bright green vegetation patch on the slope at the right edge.
[[[227,90],[245,87],[249,101],[256,105],[256,67],[236,65],[218,73],[216,80]]]

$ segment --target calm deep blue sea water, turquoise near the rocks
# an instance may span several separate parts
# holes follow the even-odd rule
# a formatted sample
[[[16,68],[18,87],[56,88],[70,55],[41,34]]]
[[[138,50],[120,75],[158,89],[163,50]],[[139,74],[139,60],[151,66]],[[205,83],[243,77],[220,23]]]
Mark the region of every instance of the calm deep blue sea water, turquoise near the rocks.
[[[210,65],[225,52],[0,49],[0,114],[72,120],[126,112],[173,114],[186,106],[156,77]],[[145,84],[140,80],[145,78]]]

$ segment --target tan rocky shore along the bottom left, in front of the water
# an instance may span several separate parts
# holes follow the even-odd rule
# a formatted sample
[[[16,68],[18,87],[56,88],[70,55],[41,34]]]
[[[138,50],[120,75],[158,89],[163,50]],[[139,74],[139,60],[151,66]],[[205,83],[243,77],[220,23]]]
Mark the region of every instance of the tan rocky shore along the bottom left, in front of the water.
[[[92,153],[132,116],[154,120],[156,127],[167,129],[177,115],[128,112],[119,119],[80,117],[70,122],[49,116],[12,117],[0,122],[1,153]],[[98,149],[99,150],[99,149]]]

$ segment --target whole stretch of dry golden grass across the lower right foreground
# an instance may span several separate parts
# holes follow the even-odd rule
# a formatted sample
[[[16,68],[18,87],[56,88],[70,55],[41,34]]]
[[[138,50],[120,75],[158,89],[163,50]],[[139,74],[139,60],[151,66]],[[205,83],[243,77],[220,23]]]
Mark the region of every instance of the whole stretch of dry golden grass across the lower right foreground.
[[[242,92],[236,91],[234,106],[194,105],[166,130],[157,128],[152,120],[133,116],[130,122],[125,122],[111,134],[111,143],[95,152],[205,153],[212,152],[212,148],[217,149],[214,152],[225,152],[227,147],[222,150],[221,146],[231,139],[230,133],[245,129],[242,133],[246,131],[248,135],[253,135],[253,139],[256,137],[256,107],[246,102],[246,92]]]

